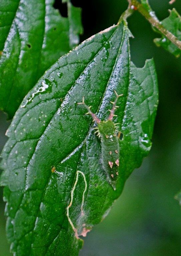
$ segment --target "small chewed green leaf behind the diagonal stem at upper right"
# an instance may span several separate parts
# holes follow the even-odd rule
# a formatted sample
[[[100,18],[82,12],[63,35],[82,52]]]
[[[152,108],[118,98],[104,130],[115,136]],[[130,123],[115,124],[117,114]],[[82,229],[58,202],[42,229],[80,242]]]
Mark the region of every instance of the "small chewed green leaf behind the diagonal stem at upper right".
[[[175,9],[170,11],[169,17],[164,19],[161,24],[173,35],[175,35],[179,40],[181,40],[181,17]],[[159,33],[158,30],[156,31]],[[161,35],[161,38],[154,39],[155,44],[157,46],[162,46],[165,50],[169,51],[176,57],[179,57],[181,54],[181,50],[176,45],[174,45],[167,37],[165,37],[163,34]]]

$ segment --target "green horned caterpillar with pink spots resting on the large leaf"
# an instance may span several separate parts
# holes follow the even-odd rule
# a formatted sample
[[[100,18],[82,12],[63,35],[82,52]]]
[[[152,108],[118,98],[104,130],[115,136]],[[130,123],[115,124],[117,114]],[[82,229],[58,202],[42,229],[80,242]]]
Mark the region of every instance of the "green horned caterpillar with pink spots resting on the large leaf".
[[[105,170],[106,175],[108,176],[109,183],[115,190],[115,183],[118,177],[118,166],[119,166],[119,138],[120,132],[117,128],[119,123],[113,122],[113,117],[117,116],[114,114],[115,110],[119,107],[116,106],[116,102],[120,96],[116,91],[116,99],[114,102],[110,101],[113,104],[113,108],[110,111],[110,115],[106,121],[101,121],[92,111],[90,110],[91,106],[88,107],[84,102],[84,97],[82,102],[78,103],[83,104],[88,110],[86,114],[90,114],[93,120],[96,122],[97,126],[94,128],[97,133],[97,136],[101,138],[101,154],[102,154],[102,165]]]

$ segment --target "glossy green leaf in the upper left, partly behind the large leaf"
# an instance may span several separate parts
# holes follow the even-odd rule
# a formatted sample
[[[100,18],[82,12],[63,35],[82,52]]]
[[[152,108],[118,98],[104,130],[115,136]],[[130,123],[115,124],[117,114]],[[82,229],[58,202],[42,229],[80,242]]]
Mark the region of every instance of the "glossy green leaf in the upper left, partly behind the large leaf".
[[[12,118],[45,70],[79,43],[80,8],[68,2],[68,18],[54,0],[0,2],[0,109]]]

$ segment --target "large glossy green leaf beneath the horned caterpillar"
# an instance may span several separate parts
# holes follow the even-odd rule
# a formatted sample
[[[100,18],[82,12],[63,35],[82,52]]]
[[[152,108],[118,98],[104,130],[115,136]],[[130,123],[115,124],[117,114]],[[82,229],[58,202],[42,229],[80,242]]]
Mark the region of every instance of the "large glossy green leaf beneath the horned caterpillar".
[[[91,110],[105,120],[114,90],[123,93],[114,119],[123,133],[115,191],[102,168],[92,118],[77,104],[85,96]],[[131,63],[125,22],[87,39],[43,75],[16,112],[2,152],[1,185],[12,252],[78,255],[82,240],[75,237],[66,210],[77,171],[87,183],[84,214],[85,182],[79,175],[69,217],[78,234],[85,235],[105,218],[126,179],[147,156],[157,103],[154,62],[146,61],[143,68]]]

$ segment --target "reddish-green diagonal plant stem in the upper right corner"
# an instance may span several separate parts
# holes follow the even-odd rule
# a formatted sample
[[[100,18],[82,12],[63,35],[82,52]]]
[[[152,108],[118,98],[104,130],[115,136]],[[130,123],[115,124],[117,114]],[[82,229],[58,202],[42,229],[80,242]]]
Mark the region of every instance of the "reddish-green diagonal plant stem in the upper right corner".
[[[164,26],[159,22],[158,19],[153,17],[137,0],[128,0],[129,8],[138,10],[151,24],[157,28],[163,35],[165,35],[173,44],[175,44],[181,50],[181,41],[170,33]]]

